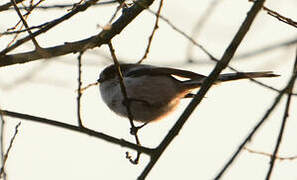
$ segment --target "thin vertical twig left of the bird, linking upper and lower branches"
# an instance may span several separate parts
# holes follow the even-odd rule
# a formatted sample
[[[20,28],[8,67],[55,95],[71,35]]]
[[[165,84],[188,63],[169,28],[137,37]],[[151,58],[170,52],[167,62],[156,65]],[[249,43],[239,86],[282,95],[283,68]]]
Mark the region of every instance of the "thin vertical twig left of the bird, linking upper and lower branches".
[[[81,95],[82,95],[82,91],[81,91],[81,85],[82,85],[82,82],[81,82],[81,57],[83,55],[83,51],[79,53],[78,55],[78,78],[77,78],[77,81],[78,81],[78,90],[77,90],[77,121],[78,121],[78,126],[79,127],[84,127],[83,126],[83,123],[82,123],[82,120],[81,120]]]

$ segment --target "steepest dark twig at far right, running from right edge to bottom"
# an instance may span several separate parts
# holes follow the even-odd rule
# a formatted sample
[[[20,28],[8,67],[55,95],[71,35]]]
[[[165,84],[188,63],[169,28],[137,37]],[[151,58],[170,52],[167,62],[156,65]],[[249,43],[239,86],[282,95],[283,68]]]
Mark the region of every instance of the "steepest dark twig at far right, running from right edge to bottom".
[[[295,63],[294,63],[294,68],[293,68],[293,75],[291,78],[291,81],[288,83],[287,87],[288,87],[288,98],[287,98],[287,103],[286,103],[286,108],[285,108],[285,112],[284,112],[284,116],[283,116],[283,120],[282,120],[282,125],[278,134],[278,138],[277,138],[277,142],[273,151],[273,155],[271,156],[270,159],[270,166],[266,175],[266,179],[270,179],[270,176],[272,174],[273,168],[274,168],[274,163],[275,163],[275,159],[277,157],[277,153],[282,141],[282,137],[283,137],[283,133],[285,131],[285,126],[286,126],[286,122],[287,119],[289,117],[289,109],[290,109],[290,104],[291,104],[291,97],[292,97],[292,90],[294,88],[294,84],[297,78],[297,48],[296,48],[296,59],[295,59]]]

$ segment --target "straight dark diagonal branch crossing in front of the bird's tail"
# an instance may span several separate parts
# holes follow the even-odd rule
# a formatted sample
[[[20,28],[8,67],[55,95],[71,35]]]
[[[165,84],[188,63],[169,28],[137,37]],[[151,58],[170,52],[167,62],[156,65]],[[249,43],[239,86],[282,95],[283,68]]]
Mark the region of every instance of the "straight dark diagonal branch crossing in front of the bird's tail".
[[[252,22],[254,21],[256,15],[260,11],[263,3],[264,3],[264,0],[262,0],[262,1],[260,0],[260,1],[257,1],[252,6],[251,10],[248,12],[246,19],[244,20],[244,22],[242,23],[238,32],[236,33],[235,37],[233,38],[232,42],[230,43],[230,45],[224,52],[222,59],[217,63],[217,65],[215,66],[213,71],[210,73],[210,75],[203,82],[197,95],[190,102],[190,104],[184,110],[184,112],[182,113],[182,115],[180,116],[178,121],[175,123],[175,125],[171,128],[171,130],[168,132],[166,137],[162,140],[160,145],[157,147],[156,153],[154,153],[151,156],[150,162],[145,167],[145,169],[142,171],[142,173],[138,179],[145,179],[145,177],[148,175],[150,170],[154,167],[155,163],[158,161],[158,159],[160,158],[162,153],[165,151],[165,149],[168,147],[168,145],[172,142],[172,140],[177,136],[177,134],[179,133],[179,131],[181,130],[183,125],[186,123],[187,119],[193,113],[194,109],[202,101],[202,99],[205,96],[205,94],[207,93],[207,91],[210,89],[210,87],[214,84],[216,79],[219,77],[221,71],[228,66],[228,63],[234,56],[236,49],[238,48],[241,41],[243,40],[246,33],[248,32]]]

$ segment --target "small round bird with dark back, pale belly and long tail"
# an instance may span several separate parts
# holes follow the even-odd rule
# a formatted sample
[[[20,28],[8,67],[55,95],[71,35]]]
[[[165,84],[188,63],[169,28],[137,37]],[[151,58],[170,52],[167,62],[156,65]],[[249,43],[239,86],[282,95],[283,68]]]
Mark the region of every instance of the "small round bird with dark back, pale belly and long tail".
[[[107,66],[97,80],[101,97],[109,109],[122,117],[129,118],[128,105],[133,120],[142,123],[158,121],[172,113],[181,99],[195,96],[191,92],[199,88],[207,78],[192,71],[148,64],[123,63],[119,67],[126,99],[114,64]],[[227,73],[220,74],[215,84],[277,76],[272,71]]]

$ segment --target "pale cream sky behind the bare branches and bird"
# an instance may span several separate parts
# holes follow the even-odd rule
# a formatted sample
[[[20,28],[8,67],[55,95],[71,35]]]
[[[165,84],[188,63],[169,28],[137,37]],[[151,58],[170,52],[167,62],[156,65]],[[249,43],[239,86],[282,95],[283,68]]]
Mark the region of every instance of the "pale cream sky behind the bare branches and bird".
[[[6,2],[6,1],[5,1]],[[60,3],[69,1],[59,1]],[[71,1],[72,2],[72,1]],[[75,2],[75,1],[73,1]],[[191,35],[192,28],[211,1],[164,1],[161,14],[183,32]],[[52,2],[51,2],[52,3]],[[156,11],[159,1],[152,9]],[[1,3],[3,4],[3,3]],[[46,5],[45,2],[43,5]],[[297,20],[295,0],[267,0],[267,7]],[[251,2],[225,0],[201,29],[197,42],[220,58],[246,17]],[[89,8],[69,21],[38,36],[42,47],[50,47],[87,38],[101,31],[115,6]],[[58,18],[66,10],[35,11],[28,19],[30,26]],[[4,32],[18,20],[14,11],[0,13],[0,31]],[[141,13],[112,41],[115,52],[126,62],[137,62],[143,55],[152,31],[155,16]],[[24,34],[26,35],[26,34]],[[24,36],[22,35],[22,36]],[[236,55],[296,39],[296,28],[261,11]],[[1,50],[11,36],[0,37]],[[150,54],[144,63],[192,70],[208,75],[214,64],[187,65],[188,40],[160,20]],[[27,43],[13,53],[32,50]],[[194,48],[194,58],[207,56]],[[279,48],[251,58],[231,61],[241,71],[274,71],[281,76],[259,81],[283,88],[291,73],[296,45]],[[89,50],[83,56],[83,86],[98,79],[99,73],[111,61],[106,45]],[[70,54],[45,61],[0,68],[0,107],[10,111],[31,114],[65,123],[76,124],[77,55]],[[205,60],[207,61],[207,60]],[[224,72],[229,72],[226,69]],[[28,76],[29,75],[29,76]],[[22,79],[23,77],[29,77]],[[296,92],[296,88],[295,88]],[[196,108],[179,135],[166,149],[147,179],[212,179],[227,162],[239,144],[271,106],[277,93],[248,80],[229,82],[213,87]],[[146,147],[155,147],[167,134],[190,100],[183,100],[177,111],[162,121],[143,128],[139,136]],[[266,124],[247,145],[256,151],[272,153],[284,112],[286,96],[271,114]],[[296,97],[292,99],[279,156],[297,155]],[[98,87],[86,90],[82,97],[82,119],[86,127],[134,142],[129,134],[129,121],[111,112],[103,103]],[[5,117],[5,149],[19,119]],[[9,180],[21,179],[136,179],[149,158],[141,156],[138,165],[132,165],[125,152],[135,152],[101,139],[68,130],[21,121],[19,133],[6,164]],[[247,151],[239,156],[222,179],[264,179],[270,158]],[[273,180],[297,179],[297,159],[276,160]]]

